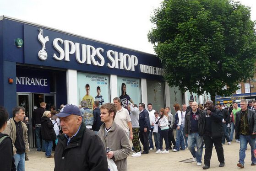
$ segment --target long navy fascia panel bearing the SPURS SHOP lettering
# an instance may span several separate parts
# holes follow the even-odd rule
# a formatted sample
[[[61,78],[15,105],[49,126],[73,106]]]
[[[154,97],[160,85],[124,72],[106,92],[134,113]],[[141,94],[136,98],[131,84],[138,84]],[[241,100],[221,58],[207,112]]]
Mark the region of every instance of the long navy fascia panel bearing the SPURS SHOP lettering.
[[[163,79],[155,55],[31,25],[24,25],[24,63]]]

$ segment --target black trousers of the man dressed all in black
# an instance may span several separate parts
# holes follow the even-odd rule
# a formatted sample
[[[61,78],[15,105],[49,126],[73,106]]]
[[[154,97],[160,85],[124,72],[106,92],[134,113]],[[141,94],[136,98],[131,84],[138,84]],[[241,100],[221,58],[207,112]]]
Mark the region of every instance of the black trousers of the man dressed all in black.
[[[204,165],[210,166],[210,160],[212,157],[212,145],[214,143],[215,150],[217,152],[218,161],[224,163],[224,151],[221,144],[222,137],[212,138],[210,136],[203,136],[205,151],[204,151]]]

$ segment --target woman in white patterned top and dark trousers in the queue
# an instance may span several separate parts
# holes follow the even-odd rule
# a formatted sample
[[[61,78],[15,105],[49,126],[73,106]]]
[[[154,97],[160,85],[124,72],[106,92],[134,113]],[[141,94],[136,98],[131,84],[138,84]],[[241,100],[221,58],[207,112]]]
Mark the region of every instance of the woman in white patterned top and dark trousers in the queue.
[[[165,112],[163,108],[160,109],[161,117],[158,121],[158,125],[161,129],[160,131],[160,150],[163,150],[163,139],[165,141],[165,150],[163,150],[161,153],[169,153],[169,143],[168,143],[168,114]]]

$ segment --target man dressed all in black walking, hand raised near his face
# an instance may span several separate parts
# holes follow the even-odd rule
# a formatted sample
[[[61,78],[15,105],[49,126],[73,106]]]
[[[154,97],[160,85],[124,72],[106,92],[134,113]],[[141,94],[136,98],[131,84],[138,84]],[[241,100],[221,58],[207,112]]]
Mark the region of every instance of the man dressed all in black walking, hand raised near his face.
[[[219,167],[225,166],[225,159],[223,154],[223,147],[221,144],[223,136],[222,126],[222,112],[215,109],[213,102],[208,100],[206,102],[207,110],[203,112],[202,117],[199,118],[199,131],[203,135],[205,143],[204,165],[203,169],[210,168],[210,160],[212,157],[212,145],[214,143],[217,152]]]

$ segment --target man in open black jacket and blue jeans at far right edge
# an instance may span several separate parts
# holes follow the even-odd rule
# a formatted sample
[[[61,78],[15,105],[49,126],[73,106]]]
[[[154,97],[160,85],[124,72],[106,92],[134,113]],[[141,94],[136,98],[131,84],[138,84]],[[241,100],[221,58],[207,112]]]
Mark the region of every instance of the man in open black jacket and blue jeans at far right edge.
[[[242,99],[240,102],[241,110],[236,112],[235,117],[235,138],[240,137],[239,161],[237,166],[244,168],[245,166],[245,150],[247,143],[251,146],[251,166],[256,165],[256,158],[253,155],[255,150],[256,138],[256,114],[255,111],[247,108],[247,102]]]

